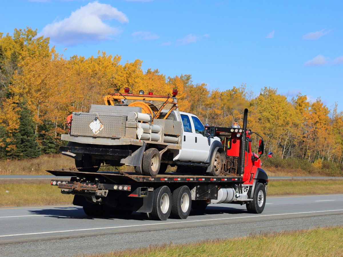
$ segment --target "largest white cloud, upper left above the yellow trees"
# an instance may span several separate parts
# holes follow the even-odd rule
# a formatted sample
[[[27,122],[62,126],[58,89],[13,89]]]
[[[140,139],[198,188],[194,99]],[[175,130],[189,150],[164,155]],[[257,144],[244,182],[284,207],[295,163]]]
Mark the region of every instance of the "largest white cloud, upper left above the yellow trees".
[[[129,22],[127,16],[117,8],[95,1],[72,12],[62,21],[46,25],[39,36],[50,37],[52,41],[61,45],[106,40],[121,32],[120,29],[103,22],[108,20]]]

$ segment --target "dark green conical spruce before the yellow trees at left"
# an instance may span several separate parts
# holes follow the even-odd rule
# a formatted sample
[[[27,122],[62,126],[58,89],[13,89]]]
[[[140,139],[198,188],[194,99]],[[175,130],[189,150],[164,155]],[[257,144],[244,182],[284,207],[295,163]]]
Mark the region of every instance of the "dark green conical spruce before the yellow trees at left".
[[[41,155],[32,113],[25,103],[21,104],[19,129],[13,138],[16,146],[16,149],[11,153],[13,159],[35,158]]]

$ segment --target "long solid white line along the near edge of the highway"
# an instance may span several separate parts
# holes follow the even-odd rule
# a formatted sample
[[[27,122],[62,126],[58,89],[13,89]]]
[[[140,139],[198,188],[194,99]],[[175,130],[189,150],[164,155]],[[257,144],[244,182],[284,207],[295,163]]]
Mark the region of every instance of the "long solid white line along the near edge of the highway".
[[[213,221],[213,220],[230,220],[230,219],[241,219],[241,218],[259,218],[259,217],[270,217],[270,216],[291,215],[291,214],[304,214],[304,213],[315,213],[315,212],[329,212],[329,211],[343,211],[343,209],[340,209],[340,210],[327,210],[327,211],[306,211],[306,212],[293,212],[293,213],[279,213],[279,214],[268,214],[268,215],[258,215],[258,216],[243,216],[243,217],[231,217],[231,218],[218,218],[218,219],[207,219],[207,220],[186,220],[186,221],[164,222],[164,223],[160,222],[160,223],[152,223],[152,224],[127,225],[127,226],[93,228],[93,229],[71,229],[71,230],[47,231],[47,232],[36,232],[36,233],[23,233],[23,234],[13,234],[13,235],[0,235],[0,237],[5,237],[5,236],[21,236],[21,235],[37,235],[37,234],[51,234],[51,233],[63,233],[63,232],[87,231],[87,230],[100,230],[100,229],[118,229],[118,228],[146,227],[146,226],[154,226],[154,225],[190,223],[190,222],[199,222],[199,221],[205,221],[206,222],[206,221]]]

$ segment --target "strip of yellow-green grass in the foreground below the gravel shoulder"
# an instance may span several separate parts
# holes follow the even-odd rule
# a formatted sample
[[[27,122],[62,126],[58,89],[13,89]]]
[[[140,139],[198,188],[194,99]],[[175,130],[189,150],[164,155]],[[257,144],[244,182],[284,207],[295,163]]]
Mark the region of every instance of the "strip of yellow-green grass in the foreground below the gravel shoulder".
[[[343,256],[343,227],[265,233],[233,239],[206,240],[181,245],[151,246],[89,257],[112,256]]]

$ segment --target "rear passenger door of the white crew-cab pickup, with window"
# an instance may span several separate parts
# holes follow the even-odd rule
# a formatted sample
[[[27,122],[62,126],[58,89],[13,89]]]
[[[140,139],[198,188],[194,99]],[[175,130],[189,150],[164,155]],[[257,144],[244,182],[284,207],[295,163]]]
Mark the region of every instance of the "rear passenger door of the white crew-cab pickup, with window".
[[[191,161],[194,154],[195,133],[193,133],[189,115],[181,114],[181,121],[184,127],[184,133],[182,134],[181,153],[176,158],[180,161]]]

